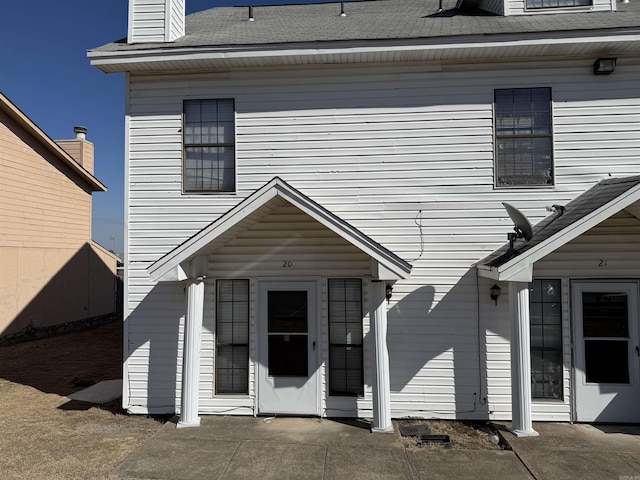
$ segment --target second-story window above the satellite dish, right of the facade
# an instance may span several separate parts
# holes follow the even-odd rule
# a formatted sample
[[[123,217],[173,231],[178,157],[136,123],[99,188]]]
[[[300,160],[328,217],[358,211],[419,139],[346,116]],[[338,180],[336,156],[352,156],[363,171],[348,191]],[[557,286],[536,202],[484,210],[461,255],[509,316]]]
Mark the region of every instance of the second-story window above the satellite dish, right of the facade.
[[[495,185],[553,185],[551,89],[495,91]]]

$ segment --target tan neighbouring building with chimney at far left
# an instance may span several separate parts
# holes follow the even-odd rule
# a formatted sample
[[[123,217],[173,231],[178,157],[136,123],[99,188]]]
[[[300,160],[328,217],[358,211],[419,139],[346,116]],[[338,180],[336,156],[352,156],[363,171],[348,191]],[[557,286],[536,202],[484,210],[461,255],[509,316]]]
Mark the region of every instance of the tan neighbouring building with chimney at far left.
[[[86,129],[51,140],[0,93],[0,336],[113,313],[118,258],[91,240]]]

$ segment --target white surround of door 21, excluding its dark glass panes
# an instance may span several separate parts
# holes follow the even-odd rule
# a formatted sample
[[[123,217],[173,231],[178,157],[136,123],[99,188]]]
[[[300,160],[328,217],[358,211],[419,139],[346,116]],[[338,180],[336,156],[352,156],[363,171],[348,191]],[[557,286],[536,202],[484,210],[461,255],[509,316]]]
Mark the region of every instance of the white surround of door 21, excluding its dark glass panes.
[[[629,314],[629,384],[587,383],[585,373],[585,349],[583,334],[583,292],[625,292],[628,298]],[[638,422],[640,408],[633,398],[640,395],[640,359],[636,348],[639,338],[639,298],[638,281],[620,280],[573,280],[571,282],[571,325],[573,329],[572,365],[572,409],[573,420],[585,422]],[[640,398],[640,397],[638,397]],[[590,402],[593,405],[588,405]],[[618,402],[614,405],[613,401]],[[582,403],[580,403],[582,402]],[[611,404],[612,408],[607,409]],[[606,410],[606,411],[605,411]]]

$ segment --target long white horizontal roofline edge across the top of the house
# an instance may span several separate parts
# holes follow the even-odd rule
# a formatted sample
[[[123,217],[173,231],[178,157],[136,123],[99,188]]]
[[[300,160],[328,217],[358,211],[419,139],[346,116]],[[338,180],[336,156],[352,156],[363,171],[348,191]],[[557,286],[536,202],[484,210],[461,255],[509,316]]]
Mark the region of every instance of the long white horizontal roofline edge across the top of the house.
[[[381,53],[397,55],[398,58],[407,53],[429,54],[445,50],[459,50],[456,57],[460,59],[482,58],[487,60],[483,53],[488,49],[500,49],[503,57],[507,57],[508,51],[513,48],[530,47],[530,55],[545,55],[548,48],[554,48],[554,56],[562,55],[559,49],[565,49],[570,54],[577,45],[593,47],[593,52],[598,52],[602,44],[620,44],[626,49],[637,44],[640,40],[637,29],[614,28],[602,30],[574,30],[554,32],[553,38],[549,38],[549,32],[528,32],[524,34],[486,34],[486,35],[461,35],[449,37],[411,38],[397,40],[351,40],[351,41],[319,41],[308,43],[278,43],[256,45],[224,45],[224,46],[190,46],[176,47],[170,44],[142,44],[137,49],[118,51],[89,50],[87,56],[91,65],[105,73],[116,72],[149,72],[152,65],[157,65],[157,70],[171,70],[170,66],[175,62],[175,69],[185,70],[188,62],[210,62],[215,67],[228,68],[230,62],[240,62],[244,67],[264,66],[263,60],[269,59],[269,65],[289,65],[287,59],[306,57],[313,64],[318,59],[319,64],[323,57],[330,56],[331,63],[340,63],[340,57],[345,57],[345,62],[352,63],[347,57],[357,54],[362,62],[376,61]],[[536,54],[535,49],[540,51]],[[640,44],[634,52],[640,51]],[[623,53],[616,53],[622,56]],[[497,58],[500,58],[499,56]]]

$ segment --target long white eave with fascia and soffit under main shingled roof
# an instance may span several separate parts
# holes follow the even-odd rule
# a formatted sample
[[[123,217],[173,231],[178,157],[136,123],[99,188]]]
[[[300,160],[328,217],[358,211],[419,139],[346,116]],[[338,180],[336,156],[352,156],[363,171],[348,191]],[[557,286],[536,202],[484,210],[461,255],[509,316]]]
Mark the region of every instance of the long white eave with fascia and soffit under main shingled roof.
[[[499,37],[499,38],[498,38]],[[203,69],[276,67],[291,65],[424,62],[529,58],[536,56],[595,55],[602,51],[616,55],[640,50],[636,34],[570,37],[558,32],[554,38],[528,38],[505,34],[420,41],[336,42],[239,46],[228,48],[184,47],[122,51],[89,51],[91,65],[105,73],[188,71]]]

